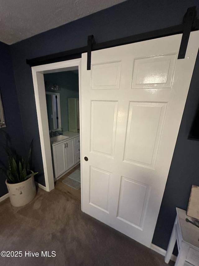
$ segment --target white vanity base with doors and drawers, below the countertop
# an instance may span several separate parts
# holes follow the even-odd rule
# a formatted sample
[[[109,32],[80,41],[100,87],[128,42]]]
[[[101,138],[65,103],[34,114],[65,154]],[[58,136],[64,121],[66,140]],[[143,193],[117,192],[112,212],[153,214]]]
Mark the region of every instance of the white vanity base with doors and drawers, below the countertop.
[[[58,178],[80,162],[80,137],[70,138],[52,146],[54,177]]]

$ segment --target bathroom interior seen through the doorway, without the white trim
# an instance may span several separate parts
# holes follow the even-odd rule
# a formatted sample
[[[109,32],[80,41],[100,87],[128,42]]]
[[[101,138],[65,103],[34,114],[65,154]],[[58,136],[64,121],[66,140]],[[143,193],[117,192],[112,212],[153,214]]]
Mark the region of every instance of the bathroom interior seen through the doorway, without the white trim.
[[[81,201],[78,69],[44,74],[55,189]]]

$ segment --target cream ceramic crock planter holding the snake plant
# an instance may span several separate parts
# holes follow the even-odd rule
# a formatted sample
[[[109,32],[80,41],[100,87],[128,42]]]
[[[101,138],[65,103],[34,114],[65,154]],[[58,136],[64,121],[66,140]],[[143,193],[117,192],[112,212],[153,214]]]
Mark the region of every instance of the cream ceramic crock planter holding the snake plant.
[[[20,207],[28,204],[36,196],[36,187],[34,176],[16,184],[9,184],[6,180],[10,202],[12,206]]]

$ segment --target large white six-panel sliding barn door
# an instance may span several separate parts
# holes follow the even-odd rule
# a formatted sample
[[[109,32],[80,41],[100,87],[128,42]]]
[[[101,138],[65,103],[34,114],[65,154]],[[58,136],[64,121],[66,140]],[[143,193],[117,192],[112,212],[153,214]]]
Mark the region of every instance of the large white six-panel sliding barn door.
[[[199,46],[177,60],[181,38],[93,51],[91,70],[82,55],[82,210],[148,247]]]

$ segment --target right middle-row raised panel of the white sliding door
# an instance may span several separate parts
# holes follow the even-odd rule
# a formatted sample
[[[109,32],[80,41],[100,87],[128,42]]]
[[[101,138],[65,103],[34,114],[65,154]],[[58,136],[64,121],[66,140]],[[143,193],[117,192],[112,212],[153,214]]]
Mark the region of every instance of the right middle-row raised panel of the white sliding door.
[[[155,168],[167,103],[130,102],[124,162]]]

